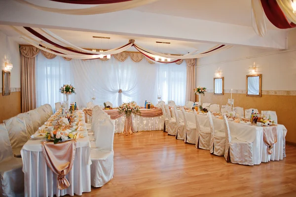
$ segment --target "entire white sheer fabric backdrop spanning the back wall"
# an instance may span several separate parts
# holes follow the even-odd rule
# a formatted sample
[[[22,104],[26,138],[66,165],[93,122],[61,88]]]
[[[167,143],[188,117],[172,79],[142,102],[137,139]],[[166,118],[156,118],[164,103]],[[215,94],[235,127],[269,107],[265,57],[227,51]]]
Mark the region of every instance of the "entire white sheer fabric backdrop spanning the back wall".
[[[119,62],[111,57],[108,61],[71,60],[62,57],[47,59],[37,55],[37,106],[63,101],[59,88],[65,83],[72,83],[76,95],[69,96],[70,102],[77,102],[80,107],[96,96],[94,104],[103,105],[110,101],[113,107],[122,102],[136,101],[157,103],[158,89],[163,101],[174,100],[177,105],[185,104],[186,63],[149,64],[146,60],[133,62],[128,57]],[[93,91],[93,89],[95,89]],[[122,93],[118,93],[121,89]]]

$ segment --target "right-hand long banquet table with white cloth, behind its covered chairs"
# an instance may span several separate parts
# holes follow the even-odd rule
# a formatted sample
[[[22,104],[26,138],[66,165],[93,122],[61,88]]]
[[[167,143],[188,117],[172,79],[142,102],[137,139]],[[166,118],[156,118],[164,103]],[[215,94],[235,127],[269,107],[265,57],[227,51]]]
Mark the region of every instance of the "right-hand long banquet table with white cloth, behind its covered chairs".
[[[183,114],[178,110],[179,118],[183,119]],[[195,124],[194,113],[185,112],[186,120]],[[205,115],[198,115],[198,121],[201,126],[210,127],[208,117]],[[225,132],[224,121],[219,118],[213,118],[215,130]],[[277,142],[272,148],[272,154],[267,153],[267,146],[263,142],[263,127],[256,125],[246,125],[229,121],[229,128],[231,135],[234,135],[237,139],[245,142],[253,143],[253,158],[254,164],[260,164],[261,162],[268,162],[270,160],[282,160],[284,147],[284,138],[287,133],[287,129],[282,124],[277,124]]]

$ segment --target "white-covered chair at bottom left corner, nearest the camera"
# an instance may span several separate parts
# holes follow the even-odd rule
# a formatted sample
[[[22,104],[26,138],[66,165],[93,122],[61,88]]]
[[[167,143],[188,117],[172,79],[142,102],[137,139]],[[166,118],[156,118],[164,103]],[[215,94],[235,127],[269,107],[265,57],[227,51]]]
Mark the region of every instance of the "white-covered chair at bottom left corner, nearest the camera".
[[[24,196],[24,173],[22,158],[13,157],[8,132],[0,124],[0,195],[1,197]]]

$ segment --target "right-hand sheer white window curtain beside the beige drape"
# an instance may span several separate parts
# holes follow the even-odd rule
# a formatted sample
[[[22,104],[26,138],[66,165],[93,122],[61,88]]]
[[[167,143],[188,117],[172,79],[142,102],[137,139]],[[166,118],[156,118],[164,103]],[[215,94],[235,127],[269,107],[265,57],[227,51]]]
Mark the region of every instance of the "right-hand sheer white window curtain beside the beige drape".
[[[186,99],[186,63],[159,64],[158,84],[162,100],[175,101],[176,105],[185,105]],[[192,90],[193,91],[193,90]]]

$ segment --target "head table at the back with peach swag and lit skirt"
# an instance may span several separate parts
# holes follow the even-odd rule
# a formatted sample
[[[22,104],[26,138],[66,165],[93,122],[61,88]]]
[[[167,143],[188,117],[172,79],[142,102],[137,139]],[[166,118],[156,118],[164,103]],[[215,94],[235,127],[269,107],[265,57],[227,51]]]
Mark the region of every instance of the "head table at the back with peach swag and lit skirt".
[[[88,110],[88,115],[91,115],[91,110]],[[122,133],[124,129],[125,116],[117,118],[112,116],[118,114],[118,110],[105,110],[111,119],[115,119],[115,133]],[[132,114],[133,128],[134,131],[155,131],[163,130],[164,118],[161,109],[140,109],[140,112],[146,117],[141,115]],[[155,115],[154,117],[147,117],[147,114]],[[115,118],[114,118],[115,117]]]

